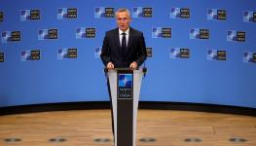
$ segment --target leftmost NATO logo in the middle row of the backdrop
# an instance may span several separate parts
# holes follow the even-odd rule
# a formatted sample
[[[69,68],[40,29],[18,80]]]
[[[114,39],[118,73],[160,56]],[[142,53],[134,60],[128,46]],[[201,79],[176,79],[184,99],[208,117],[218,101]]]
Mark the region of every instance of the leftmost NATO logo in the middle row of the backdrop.
[[[2,43],[20,41],[20,31],[4,31],[2,32]]]

